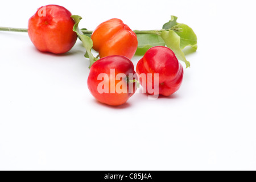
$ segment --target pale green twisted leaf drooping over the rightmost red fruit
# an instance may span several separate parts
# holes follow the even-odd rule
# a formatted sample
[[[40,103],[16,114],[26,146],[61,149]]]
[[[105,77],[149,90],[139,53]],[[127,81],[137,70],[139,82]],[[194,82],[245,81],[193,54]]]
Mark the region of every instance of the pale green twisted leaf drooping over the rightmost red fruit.
[[[166,43],[167,47],[174,51],[177,59],[184,61],[186,64],[186,68],[190,67],[189,61],[185,58],[184,53],[181,51],[180,48],[180,36],[176,34],[175,31],[163,31],[161,34],[164,42]]]

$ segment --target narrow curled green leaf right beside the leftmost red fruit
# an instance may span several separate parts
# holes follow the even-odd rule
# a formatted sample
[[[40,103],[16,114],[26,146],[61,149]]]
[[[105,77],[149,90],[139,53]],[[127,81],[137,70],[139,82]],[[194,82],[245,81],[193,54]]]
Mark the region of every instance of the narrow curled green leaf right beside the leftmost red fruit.
[[[95,63],[95,61],[98,60],[93,56],[91,52],[93,47],[93,41],[91,38],[89,38],[89,36],[82,34],[81,30],[79,29],[79,22],[82,19],[82,17],[78,15],[72,15],[71,17],[75,20],[76,23],[73,27],[73,31],[75,31],[76,34],[79,36],[79,39],[82,41],[82,45],[86,49],[85,57],[89,58],[90,60],[90,68],[92,67],[93,63]]]

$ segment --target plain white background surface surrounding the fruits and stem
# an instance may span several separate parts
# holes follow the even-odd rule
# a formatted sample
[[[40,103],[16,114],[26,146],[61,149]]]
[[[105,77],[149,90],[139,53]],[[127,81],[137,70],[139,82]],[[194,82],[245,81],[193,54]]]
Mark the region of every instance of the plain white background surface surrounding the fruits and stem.
[[[199,49],[173,96],[135,94],[110,107],[89,93],[80,41],[55,56],[26,33],[0,32],[0,169],[256,169],[253,1],[6,1],[0,26],[26,28],[48,4],[81,15],[89,30],[110,18],[160,29],[176,15]]]

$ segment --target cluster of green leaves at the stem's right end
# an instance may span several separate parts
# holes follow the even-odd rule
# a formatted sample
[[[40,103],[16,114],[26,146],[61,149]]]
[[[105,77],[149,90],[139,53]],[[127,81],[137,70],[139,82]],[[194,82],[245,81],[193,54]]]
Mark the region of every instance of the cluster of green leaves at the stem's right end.
[[[163,29],[156,31],[155,35],[142,34],[138,37],[138,49],[136,55],[143,55],[154,46],[167,46],[174,51],[177,59],[184,61],[186,67],[190,67],[185,58],[183,49],[187,46],[197,49],[197,37],[195,32],[187,24],[177,23],[177,17],[171,16],[171,20],[163,25]]]

